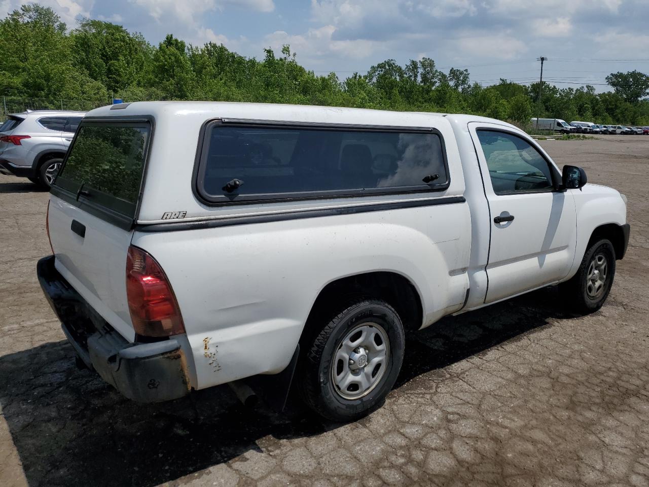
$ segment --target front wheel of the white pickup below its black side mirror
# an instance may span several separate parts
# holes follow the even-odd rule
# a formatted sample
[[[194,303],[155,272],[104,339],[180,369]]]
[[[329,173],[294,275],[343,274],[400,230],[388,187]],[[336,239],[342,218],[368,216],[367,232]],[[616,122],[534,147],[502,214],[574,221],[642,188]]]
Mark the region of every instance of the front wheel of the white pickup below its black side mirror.
[[[597,262],[600,257],[606,259],[606,273],[600,288],[594,284],[593,270],[598,273],[597,283],[602,277],[601,267]],[[566,282],[559,284],[559,291],[564,303],[570,311],[579,314],[589,314],[597,311],[604,305],[606,298],[611,292],[613,279],[615,278],[615,248],[613,243],[606,238],[594,242],[583,255],[582,264],[577,273]]]

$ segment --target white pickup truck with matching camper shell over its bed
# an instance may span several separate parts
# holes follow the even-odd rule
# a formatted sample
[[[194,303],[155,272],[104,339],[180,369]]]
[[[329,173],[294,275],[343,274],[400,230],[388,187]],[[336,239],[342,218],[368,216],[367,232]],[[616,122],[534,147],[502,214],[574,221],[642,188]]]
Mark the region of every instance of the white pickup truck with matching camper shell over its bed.
[[[106,106],[53,184],[38,277],[79,362],[127,397],[249,378],[282,405],[293,382],[349,421],[393,387],[407,332],[552,284],[602,306],[626,197],[585,183],[478,116]]]

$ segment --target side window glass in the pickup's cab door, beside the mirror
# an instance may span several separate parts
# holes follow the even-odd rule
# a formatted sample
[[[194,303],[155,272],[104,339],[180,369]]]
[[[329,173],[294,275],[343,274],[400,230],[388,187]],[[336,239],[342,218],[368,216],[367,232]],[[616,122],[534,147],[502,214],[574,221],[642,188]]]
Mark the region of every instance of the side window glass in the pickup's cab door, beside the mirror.
[[[554,190],[552,168],[526,140],[506,132],[477,132],[495,194]]]

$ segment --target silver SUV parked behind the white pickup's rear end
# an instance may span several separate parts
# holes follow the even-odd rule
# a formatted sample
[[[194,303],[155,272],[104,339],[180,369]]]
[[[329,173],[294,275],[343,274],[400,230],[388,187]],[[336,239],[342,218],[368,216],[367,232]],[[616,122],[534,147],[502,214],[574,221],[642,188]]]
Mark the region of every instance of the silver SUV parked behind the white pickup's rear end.
[[[0,173],[49,189],[86,112],[36,110],[10,114],[0,125]]]

